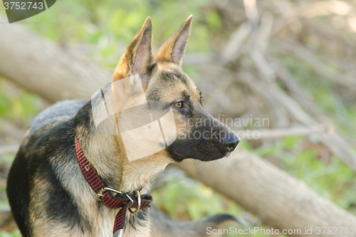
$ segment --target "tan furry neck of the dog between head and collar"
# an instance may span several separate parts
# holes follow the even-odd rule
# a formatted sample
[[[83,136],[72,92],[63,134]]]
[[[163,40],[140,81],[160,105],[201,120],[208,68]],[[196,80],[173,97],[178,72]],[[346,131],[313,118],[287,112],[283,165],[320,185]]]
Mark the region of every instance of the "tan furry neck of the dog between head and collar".
[[[173,162],[164,150],[156,154],[129,161],[120,135],[103,135],[96,130],[90,102],[75,116],[75,135],[88,161],[112,189],[131,192],[146,186],[155,174]]]

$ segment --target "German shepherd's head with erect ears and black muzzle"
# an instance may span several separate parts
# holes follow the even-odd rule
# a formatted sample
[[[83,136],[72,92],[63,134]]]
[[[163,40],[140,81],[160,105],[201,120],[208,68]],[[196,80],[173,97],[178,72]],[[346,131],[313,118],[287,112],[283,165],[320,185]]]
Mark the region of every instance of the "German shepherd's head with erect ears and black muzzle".
[[[127,47],[112,77],[114,90],[118,91],[115,96],[119,104],[127,102],[127,98],[122,96],[127,93],[127,88],[125,89],[125,85],[124,90],[115,88],[114,83],[133,75],[140,75],[139,81],[145,91],[145,98],[150,101],[150,109],[160,108],[165,111],[168,109],[172,112],[176,136],[174,140],[168,142],[167,134],[164,132],[162,134],[166,136],[165,150],[177,162],[186,158],[202,161],[219,159],[234,151],[239,143],[239,137],[234,132],[204,110],[200,90],[182,70],[182,58],[191,25],[192,16],[189,16],[154,56],[152,23],[151,19],[147,18],[140,32]],[[135,80],[132,82],[135,83]],[[135,87],[131,87],[131,94],[132,88]],[[154,101],[160,103],[153,105]],[[159,125],[161,129],[164,127],[162,124]],[[137,144],[137,149],[140,149],[140,144]]]

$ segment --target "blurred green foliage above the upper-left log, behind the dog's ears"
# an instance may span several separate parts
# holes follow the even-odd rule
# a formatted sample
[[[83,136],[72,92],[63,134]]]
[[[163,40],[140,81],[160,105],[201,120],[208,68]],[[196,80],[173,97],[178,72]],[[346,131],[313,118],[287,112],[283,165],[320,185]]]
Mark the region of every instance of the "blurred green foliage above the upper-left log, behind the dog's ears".
[[[208,24],[201,23],[199,9],[206,1],[57,1],[47,11],[23,20],[37,22],[29,27],[60,43],[85,45],[102,66],[112,69],[125,47],[140,30],[147,16],[153,23],[154,46],[158,47],[194,15],[192,37],[187,51],[208,51],[208,28],[220,26],[219,16],[211,12]]]

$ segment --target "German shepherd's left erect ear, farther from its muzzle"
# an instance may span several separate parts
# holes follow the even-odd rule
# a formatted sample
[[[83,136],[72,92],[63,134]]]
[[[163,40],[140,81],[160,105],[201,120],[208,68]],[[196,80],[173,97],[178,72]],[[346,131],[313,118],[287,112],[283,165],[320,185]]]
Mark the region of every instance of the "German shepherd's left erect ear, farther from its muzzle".
[[[147,17],[139,33],[127,46],[124,55],[120,58],[112,82],[127,78],[130,75],[140,75],[142,85],[147,88],[152,73],[155,58],[152,53],[152,21]]]

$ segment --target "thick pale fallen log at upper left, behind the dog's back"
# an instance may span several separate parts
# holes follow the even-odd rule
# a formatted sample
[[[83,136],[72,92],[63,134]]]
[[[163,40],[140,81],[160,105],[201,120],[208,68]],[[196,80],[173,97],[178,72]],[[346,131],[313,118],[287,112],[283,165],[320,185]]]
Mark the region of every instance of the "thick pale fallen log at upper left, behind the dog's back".
[[[0,21],[6,21],[4,16]],[[19,25],[1,24],[0,36],[0,75],[51,102],[88,98],[110,83],[110,73],[88,58],[71,55]]]

